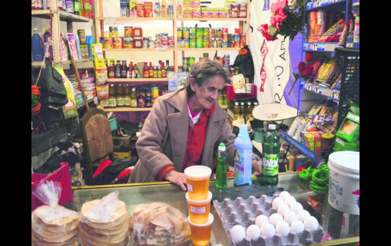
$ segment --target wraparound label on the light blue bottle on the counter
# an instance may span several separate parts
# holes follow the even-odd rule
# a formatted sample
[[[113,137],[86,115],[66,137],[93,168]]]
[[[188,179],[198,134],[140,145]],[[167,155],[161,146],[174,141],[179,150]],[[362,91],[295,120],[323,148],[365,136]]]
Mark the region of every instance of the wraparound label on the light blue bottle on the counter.
[[[234,181],[237,185],[252,184],[252,150],[235,149]]]

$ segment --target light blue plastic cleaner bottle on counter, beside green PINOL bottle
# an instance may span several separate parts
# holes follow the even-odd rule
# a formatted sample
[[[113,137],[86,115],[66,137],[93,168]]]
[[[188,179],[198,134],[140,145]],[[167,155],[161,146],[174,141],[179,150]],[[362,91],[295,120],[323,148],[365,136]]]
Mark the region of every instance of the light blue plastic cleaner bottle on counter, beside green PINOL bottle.
[[[247,125],[239,127],[239,134],[235,139],[235,148],[235,185],[251,185],[252,144],[248,136]]]

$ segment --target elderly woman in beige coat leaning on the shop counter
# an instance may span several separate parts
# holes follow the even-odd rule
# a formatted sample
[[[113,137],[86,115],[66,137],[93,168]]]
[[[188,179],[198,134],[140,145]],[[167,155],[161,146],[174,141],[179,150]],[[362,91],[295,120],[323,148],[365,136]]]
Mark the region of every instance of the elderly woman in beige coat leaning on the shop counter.
[[[193,65],[186,87],[157,98],[136,143],[139,161],[128,183],[169,181],[186,190],[186,167],[213,169],[218,144],[224,143],[227,163],[234,163],[235,134],[216,103],[229,78],[217,61]],[[254,161],[260,170],[262,162]]]

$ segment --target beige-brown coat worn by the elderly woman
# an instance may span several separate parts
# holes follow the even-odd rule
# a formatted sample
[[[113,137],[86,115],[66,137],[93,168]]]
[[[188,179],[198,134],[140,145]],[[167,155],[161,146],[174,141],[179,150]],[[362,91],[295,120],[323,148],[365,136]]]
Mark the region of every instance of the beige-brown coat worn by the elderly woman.
[[[234,163],[235,134],[227,124],[227,118],[216,103],[207,124],[202,165],[213,169],[213,155],[221,142],[226,146],[227,163]],[[140,159],[128,183],[157,181],[158,172],[168,165],[174,165],[175,170],[180,172],[186,151],[188,124],[186,89],[159,96],[137,140],[136,149]]]

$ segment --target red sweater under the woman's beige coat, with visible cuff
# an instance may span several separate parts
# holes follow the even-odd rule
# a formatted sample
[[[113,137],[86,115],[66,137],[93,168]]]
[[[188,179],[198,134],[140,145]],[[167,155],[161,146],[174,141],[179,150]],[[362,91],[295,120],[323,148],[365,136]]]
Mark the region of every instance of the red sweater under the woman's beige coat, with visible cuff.
[[[205,136],[207,132],[206,126],[208,124],[209,116],[213,114],[215,107],[216,103],[213,103],[213,106],[210,108],[210,110],[203,110],[201,112],[200,121],[194,124],[193,128],[191,127],[191,123],[189,121],[186,152],[183,159],[181,172],[183,172],[186,167],[201,164],[202,150],[204,148]],[[169,165],[161,169],[157,174],[157,180],[162,181],[166,173],[172,169],[175,169],[173,165]]]

